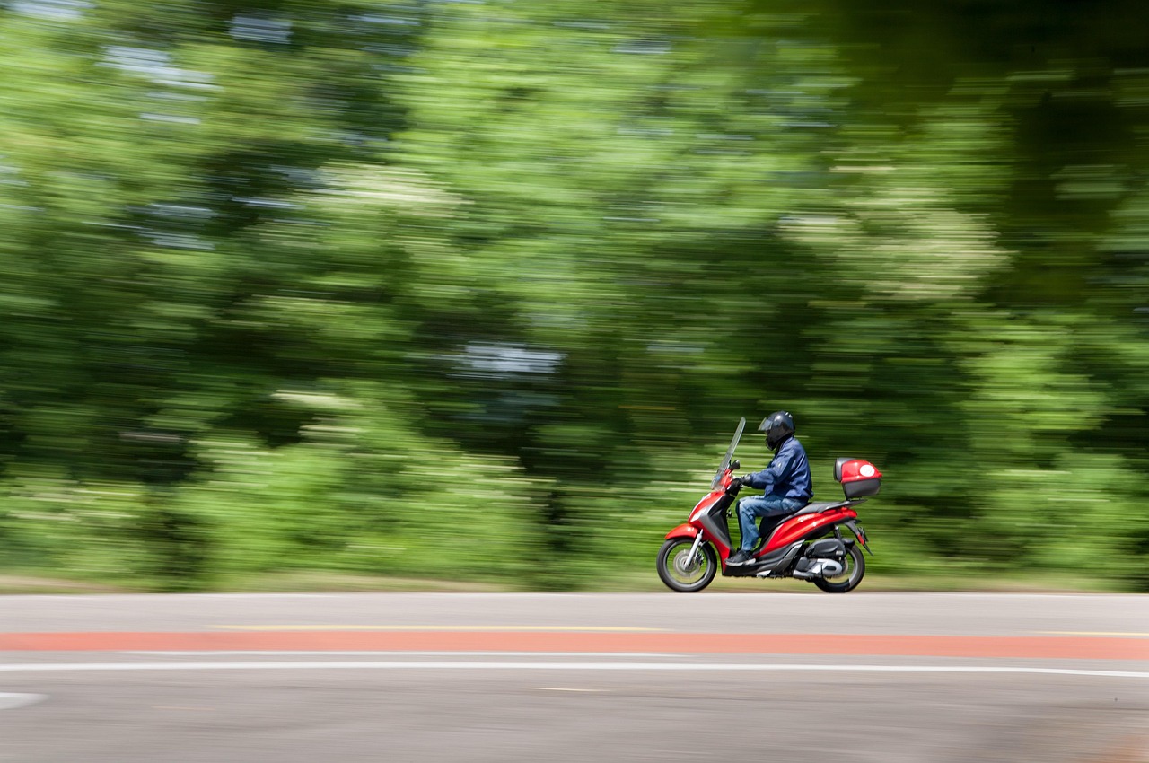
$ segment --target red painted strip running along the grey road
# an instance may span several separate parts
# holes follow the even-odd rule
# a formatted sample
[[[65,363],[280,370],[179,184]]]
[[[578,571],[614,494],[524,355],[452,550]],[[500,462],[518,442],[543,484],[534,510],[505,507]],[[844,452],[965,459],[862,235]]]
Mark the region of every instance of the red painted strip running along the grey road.
[[[0,633],[0,652],[589,652],[1149,660],[1149,639],[1064,635],[306,631]]]

